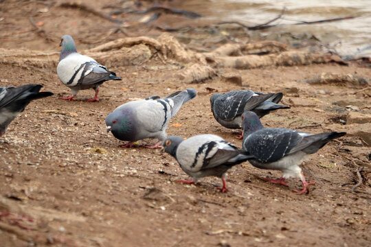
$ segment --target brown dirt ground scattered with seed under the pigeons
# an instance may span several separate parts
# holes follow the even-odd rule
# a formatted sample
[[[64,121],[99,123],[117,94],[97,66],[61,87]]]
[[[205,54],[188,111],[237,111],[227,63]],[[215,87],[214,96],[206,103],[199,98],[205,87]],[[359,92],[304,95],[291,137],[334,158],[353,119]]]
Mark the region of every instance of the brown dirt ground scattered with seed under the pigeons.
[[[78,101],[67,102],[58,99],[71,93],[56,74],[60,37],[71,34],[78,51],[83,51],[124,34],[106,36],[117,24],[62,8],[62,2],[56,1],[47,12],[45,1],[0,3],[0,48],[56,51],[51,55],[52,67],[0,60],[0,86],[37,83],[54,92],[27,106],[0,139],[0,246],[371,245],[371,148],[357,134],[358,129],[370,133],[370,123],[339,121],[349,111],[370,114],[370,91],[304,82],[322,72],[371,78],[369,67],[350,62],[347,66],[218,69],[221,74],[242,75],[243,86],[221,77],[186,84],[177,79],[181,69],[155,57],[135,66],[111,64],[109,69],[123,80],[105,82],[100,102],[85,101],[93,97],[92,90],[80,91]],[[110,2],[98,1],[94,6],[101,10]],[[30,16],[43,25],[34,27]],[[177,20],[190,21],[163,14],[157,23]],[[153,38],[161,34],[146,25],[127,32]],[[220,42],[205,49],[214,49]],[[168,135],[212,133],[241,147],[236,131],[220,126],[210,112],[212,91],[239,89],[284,93],[283,104],[291,109],[263,117],[265,126],[349,134],[328,143],[302,165],[310,172],[304,173],[307,180],[315,182],[308,194],[292,191],[301,188],[298,179],[289,180],[289,188],[267,183],[261,178],[278,178],[280,172],[256,169],[249,163],[227,172],[231,189],[227,193],[216,189],[221,185],[218,178],[204,178],[196,186],[179,184],[176,180],[188,177],[174,158],[159,150],[118,148],[122,142],[106,134],[104,119],[125,102],[186,88],[196,89],[198,96],[170,121]],[[360,181],[358,175],[361,184],[352,191]]]

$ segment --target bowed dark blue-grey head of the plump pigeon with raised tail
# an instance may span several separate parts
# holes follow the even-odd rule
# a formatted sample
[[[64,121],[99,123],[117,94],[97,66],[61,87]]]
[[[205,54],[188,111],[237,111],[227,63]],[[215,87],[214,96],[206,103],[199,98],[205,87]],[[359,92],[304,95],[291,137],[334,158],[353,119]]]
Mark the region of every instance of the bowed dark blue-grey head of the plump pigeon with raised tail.
[[[133,115],[128,110],[120,110],[110,113],[106,117],[107,132],[112,132],[113,136],[122,141],[134,140],[136,129],[133,125]]]

